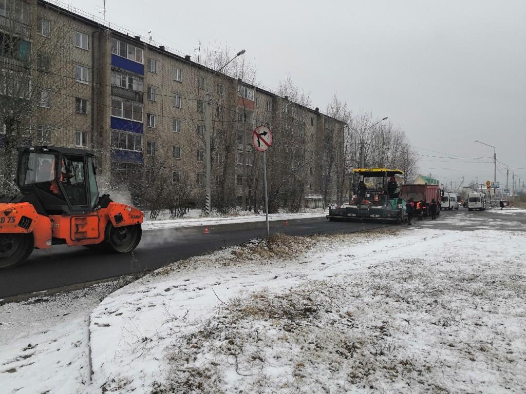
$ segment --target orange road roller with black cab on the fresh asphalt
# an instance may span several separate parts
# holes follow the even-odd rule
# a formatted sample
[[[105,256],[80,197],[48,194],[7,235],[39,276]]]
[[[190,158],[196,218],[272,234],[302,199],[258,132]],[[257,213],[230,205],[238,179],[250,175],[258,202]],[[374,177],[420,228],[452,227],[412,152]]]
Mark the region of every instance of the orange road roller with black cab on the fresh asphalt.
[[[56,244],[131,252],[139,244],[143,213],[99,196],[91,152],[21,148],[20,194],[0,195],[0,268],[22,264],[34,248]]]

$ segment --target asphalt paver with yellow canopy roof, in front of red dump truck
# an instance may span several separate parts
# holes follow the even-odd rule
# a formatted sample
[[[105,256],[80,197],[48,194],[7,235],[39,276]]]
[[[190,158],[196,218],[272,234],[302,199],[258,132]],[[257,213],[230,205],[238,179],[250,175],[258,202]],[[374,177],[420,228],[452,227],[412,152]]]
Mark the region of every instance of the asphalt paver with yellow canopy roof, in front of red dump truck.
[[[395,175],[402,170],[387,168],[357,168],[359,175],[356,195],[348,204],[329,207],[326,215],[330,221],[371,220],[402,223],[407,220],[406,201],[399,197]],[[388,180],[388,178],[390,178]]]

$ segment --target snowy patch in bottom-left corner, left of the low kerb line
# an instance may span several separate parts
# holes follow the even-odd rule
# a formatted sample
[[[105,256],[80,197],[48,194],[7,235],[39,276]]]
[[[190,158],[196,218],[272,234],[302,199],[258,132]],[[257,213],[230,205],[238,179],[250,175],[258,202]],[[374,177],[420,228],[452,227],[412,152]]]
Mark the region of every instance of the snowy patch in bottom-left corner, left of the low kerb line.
[[[88,317],[116,283],[0,305],[0,392],[85,393]]]

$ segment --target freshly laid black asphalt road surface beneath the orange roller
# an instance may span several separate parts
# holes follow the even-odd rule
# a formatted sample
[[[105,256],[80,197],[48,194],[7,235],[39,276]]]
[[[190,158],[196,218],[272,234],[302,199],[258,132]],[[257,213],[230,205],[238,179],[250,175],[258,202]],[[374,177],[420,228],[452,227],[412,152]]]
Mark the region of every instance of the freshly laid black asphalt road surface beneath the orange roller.
[[[450,214],[444,212],[442,217]],[[382,227],[379,222],[329,222],[325,217],[271,221],[270,233],[343,234]],[[0,271],[0,298],[73,286],[150,271],[171,262],[237,245],[265,235],[265,222],[186,227],[143,232],[133,254],[104,254],[84,247],[58,245],[35,251],[22,266]]]

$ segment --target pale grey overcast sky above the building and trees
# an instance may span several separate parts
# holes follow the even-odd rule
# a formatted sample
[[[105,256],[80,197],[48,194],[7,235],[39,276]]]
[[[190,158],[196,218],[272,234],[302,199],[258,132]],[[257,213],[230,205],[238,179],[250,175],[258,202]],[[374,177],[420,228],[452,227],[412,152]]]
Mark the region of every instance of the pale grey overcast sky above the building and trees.
[[[103,0],[70,4],[100,16]],[[110,22],[151,30],[185,54],[196,55],[199,41],[246,49],[258,81],[276,89],[289,73],[314,107],[337,92],[354,112],[388,116],[422,154],[420,172],[444,183],[493,180],[493,149],[475,139],[526,181],[524,0],[107,0],[106,8]],[[457,156],[487,159],[447,159]],[[505,183],[505,170],[497,180]]]

